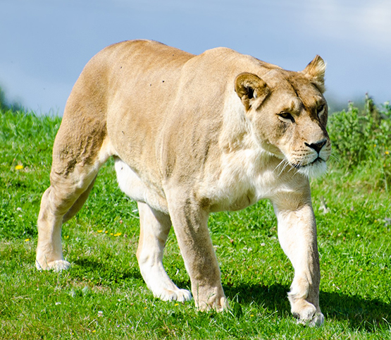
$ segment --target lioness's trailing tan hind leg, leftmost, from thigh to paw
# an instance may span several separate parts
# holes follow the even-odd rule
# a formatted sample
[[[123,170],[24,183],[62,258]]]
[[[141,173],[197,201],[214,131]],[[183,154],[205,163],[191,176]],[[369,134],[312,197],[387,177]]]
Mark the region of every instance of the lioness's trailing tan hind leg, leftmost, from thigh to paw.
[[[67,124],[68,123],[68,124]],[[87,200],[98,171],[113,154],[111,143],[99,133],[83,133],[66,121],[56,136],[50,183],[42,195],[37,221],[37,269],[61,271],[70,267],[63,258],[61,226]],[[98,131],[98,132],[99,132]],[[96,132],[96,131],[93,131]]]

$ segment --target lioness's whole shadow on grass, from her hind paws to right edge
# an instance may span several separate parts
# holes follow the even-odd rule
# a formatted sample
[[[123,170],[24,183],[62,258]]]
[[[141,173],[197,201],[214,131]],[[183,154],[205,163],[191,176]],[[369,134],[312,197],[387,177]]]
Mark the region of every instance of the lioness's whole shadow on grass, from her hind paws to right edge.
[[[115,269],[104,265],[99,260],[80,258],[75,260],[73,270],[75,276],[85,279],[86,276],[97,284],[123,283],[123,281],[137,281],[144,284],[137,265],[124,266]],[[190,281],[174,280],[180,288],[190,287]],[[134,284],[131,283],[130,284]],[[241,305],[256,303],[260,308],[267,308],[281,317],[290,314],[290,303],[287,299],[289,286],[273,284],[272,286],[247,285],[224,286],[225,294]],[[321,291],[321,310],[327,320],[346,321],[351,329],[376,332],[378,329],[390,329],[391,304],[376,299],[364,299],[359,296],[347,296],[343,293],[329,293]]]

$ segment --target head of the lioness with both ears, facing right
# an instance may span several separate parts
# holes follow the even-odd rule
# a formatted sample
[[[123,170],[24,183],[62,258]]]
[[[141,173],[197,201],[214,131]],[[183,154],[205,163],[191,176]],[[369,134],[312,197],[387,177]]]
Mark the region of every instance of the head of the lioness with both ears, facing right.
[[[241,73],[235,80],[263,149],[306,176],[323,174],[330,157],[324,74],[325,63],[316,56],[302,72],[271,68],[262,79]]]

